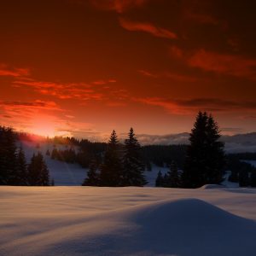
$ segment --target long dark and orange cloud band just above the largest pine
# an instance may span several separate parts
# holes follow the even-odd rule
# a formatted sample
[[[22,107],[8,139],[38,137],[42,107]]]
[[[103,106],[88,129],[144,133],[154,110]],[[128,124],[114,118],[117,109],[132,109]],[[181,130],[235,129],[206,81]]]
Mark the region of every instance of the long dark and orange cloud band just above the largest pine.
[[[160,97],[134,98],[137,102],[165,108],[168,113],[190,114],[203,110],[209,112],[230,112],[237,110],[256,111],[255,102],[235,102],[216,98],[177,100]]]

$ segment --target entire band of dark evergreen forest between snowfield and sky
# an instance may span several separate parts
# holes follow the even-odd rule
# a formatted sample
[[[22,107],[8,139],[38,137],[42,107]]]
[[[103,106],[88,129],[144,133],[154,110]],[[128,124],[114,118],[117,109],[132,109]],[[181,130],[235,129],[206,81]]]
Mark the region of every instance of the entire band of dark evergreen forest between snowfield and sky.
[[[27,163],[23,148],[18,147],[19,139],[32,142],[33,137],[0,126],[0,185],[54,185],[43,154],[34,154]],[[189,145],[142,147],[132,128],[124,143],[119,143],[115,131],[108,143],[73,137],[36,138],[36,152],[41,143],[46,143],[48,158],[89,168],[84,186],[144,186],[145,172],[160,166],[169,170],[158,173],[157,187],[199,188],[207,183],[218,184],[223,181],[224,170],[229,170],[230,182],[256,187],[256,168],[247,162],[256,160],[256,153],[225,155],[218,124],[208,113],[199,112],[196,116]]]

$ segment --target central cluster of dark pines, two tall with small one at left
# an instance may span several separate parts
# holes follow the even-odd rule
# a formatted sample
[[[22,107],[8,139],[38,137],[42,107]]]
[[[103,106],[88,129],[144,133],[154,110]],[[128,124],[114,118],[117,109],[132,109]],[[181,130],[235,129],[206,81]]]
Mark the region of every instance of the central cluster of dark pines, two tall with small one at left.
[[[102,163],[93,160],[84,179],[84,186],[143,186],[147,183],[143,171],[141,145],[131,128],[125,145],[119,143],[113,130]]]

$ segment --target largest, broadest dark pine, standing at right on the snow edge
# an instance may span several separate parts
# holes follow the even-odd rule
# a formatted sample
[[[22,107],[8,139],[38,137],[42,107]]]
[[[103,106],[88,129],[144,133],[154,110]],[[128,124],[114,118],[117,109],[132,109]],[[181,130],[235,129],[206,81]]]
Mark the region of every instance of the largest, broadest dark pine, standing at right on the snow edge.
[[[219,142],[218,125],[212,116],[199,112],[189,137],[183,171],[183,186],[199,188],[221,183],[224,168],[224,143]]]

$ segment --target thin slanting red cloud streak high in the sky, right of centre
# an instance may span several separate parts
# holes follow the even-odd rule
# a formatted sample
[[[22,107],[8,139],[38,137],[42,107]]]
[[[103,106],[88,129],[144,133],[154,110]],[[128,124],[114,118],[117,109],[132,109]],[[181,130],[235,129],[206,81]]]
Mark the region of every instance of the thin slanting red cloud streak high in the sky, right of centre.
[[[148,32],[157,38],[177,39],[177,34],[175,32],[171,32],[170,30],[160,26],[154,26],[154,24],[148,22],[137,22],[127,20],[125,18],[119,18],[119,23],[120,26],[128,31]]]

